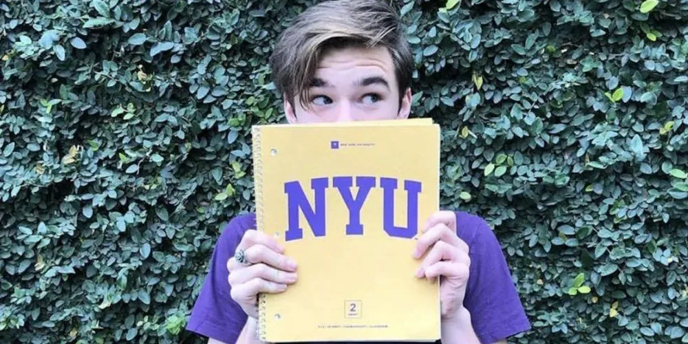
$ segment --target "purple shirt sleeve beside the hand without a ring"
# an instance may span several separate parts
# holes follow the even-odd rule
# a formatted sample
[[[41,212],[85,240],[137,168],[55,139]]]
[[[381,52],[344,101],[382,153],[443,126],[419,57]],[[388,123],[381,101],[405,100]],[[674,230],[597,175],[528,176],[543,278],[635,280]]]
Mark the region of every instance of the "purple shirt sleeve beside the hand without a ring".
[[[502,247],[487,222],[477,215],[468,217],[464,226],[473,234],[469,257],[471,267],[464,307],[471,312],[473,330],[481,343],[495,343],[530,330],[530,323],[511,278]],[[457,221],[462,226],[461,221]],[[466,229],[464,229],[466,230]]]

